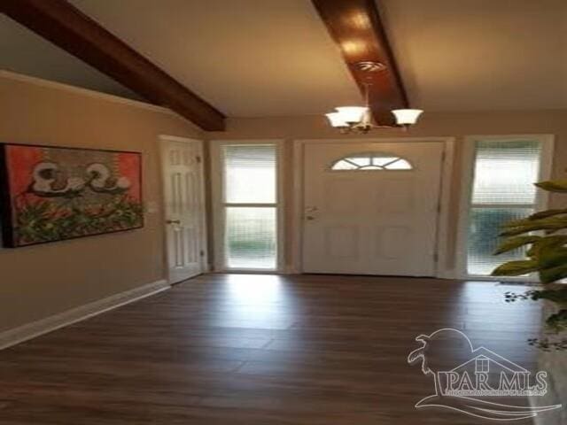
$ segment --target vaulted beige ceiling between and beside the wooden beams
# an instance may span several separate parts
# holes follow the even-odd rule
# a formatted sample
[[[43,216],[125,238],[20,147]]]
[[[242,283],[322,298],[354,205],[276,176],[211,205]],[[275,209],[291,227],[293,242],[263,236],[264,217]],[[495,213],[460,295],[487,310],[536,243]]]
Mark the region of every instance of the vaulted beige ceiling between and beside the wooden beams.
[[[310,0],[71,0],[229,117],[320,114],[359,91]],[[380,0],[412,106],[567,108],[564,0]],[[0,15],[0,67],[138,98]]]

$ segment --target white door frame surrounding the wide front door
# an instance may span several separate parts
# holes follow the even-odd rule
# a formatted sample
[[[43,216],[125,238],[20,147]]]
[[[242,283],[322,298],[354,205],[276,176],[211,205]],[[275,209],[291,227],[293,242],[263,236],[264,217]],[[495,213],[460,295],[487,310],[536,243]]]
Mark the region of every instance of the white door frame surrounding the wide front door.
[[[450,258],[448,243],[449,208],[451,203],[451,182],[454,170],[455,137],[367,137],[349,139],[298,139],[293,141],[293,211],[291,213],[291,255],[290,266],[286,272],[301,274],[303,272],[303,212],[304,212],[304,175],[305,147],[314,143],[443,143],[441,161],[441,180],[439,182],[439,213],[437,217],[437,237],[435,241],[437,261],[435,277],[453,278],[454,270],[447,264]]]

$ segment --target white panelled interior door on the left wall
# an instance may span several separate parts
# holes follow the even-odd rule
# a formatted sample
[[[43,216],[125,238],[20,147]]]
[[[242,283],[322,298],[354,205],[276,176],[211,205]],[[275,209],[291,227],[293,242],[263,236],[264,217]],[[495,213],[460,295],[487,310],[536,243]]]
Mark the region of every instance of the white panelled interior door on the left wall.
[[[162,137],[165,226],[169,282],[206,270],[202,142]]]

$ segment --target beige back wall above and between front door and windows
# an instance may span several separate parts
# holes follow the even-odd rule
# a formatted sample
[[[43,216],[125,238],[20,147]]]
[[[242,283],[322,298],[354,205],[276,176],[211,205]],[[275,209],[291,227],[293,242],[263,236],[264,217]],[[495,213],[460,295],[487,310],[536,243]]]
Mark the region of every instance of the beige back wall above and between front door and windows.
[[[291,249],[293,235],[291,233],[293,167],[292,141],[295,139],[338,139],[338,138],[391,138],[419,136],[454,136],[456,149],[454,152],[454,175],[452,178],[449,238],[447,251],[455,249],[455,236],[458,224],[458,204],[461,193],[461,163],[462,140],[465,135],[524,135],[552,134],[555,135],[554,176],[564,175],[567,167],[567,111],[538,111],[538,112],[470,112],[470,113],[435,113],[425,112],[422,120],[408,132],[397,128],[386,128],[373,131],[366,136],[340,135],[327,125],[324,117],[283,117],[266,119],[229,119],[228,131],[223,133],[208,133],[207,138],[214,139],[285,139],[284,182],[285,182],[285,257],[286,266],[291,267],[294,252]],[[557,198],[552,204],[557,203]],[[447,269],[454,267],[454,255],[447,258]]]

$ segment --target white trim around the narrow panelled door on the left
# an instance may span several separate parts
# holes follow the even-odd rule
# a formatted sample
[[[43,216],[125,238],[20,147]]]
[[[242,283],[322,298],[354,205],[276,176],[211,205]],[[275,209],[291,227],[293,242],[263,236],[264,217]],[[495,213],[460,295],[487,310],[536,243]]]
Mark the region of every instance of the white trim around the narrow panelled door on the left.
[[[159,143],[159,174],[160,174],[160,189],[161,189],[161,208],[160,208],[160,215],[161,215],[161,228],[163,229],[163,240],[162,246],[164,250],[163,256],[163,267],[166,271],[165,275],[167,278],[167,282],[171,284],[171,276],[169,275],[169,263],[168,263],[168,255],[169,252],[167,251],[167,224],[166,224],[166,193],[165,193],[165,169],[164,169],[164,152],[165,152],[165,143],[167,142],[181,142],[181,143],[195,143],[197,145],[198,156],[201,158],[200,160],[200,184],[199,184],[199,202],[203,205],[203,211],[201,212],[201,217],[199,218],[199,243],[201,247],[201,251],[203,252],[200,255],[200,263],[201,263],[201,270],[203,273],[210,272],[209,261],[208,261],[208,240],[207,240],[207,223],[206,223],[206,185],[205,185],[205,158],[203,156],[204,148],[203,148],[203,141],[200,139],[193,139],[190,137],[180,137],[177,135],[158,135],[158,143]]]

